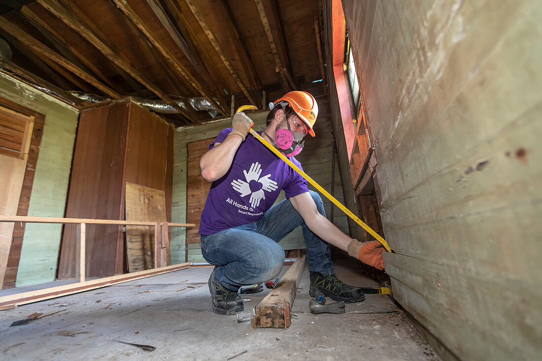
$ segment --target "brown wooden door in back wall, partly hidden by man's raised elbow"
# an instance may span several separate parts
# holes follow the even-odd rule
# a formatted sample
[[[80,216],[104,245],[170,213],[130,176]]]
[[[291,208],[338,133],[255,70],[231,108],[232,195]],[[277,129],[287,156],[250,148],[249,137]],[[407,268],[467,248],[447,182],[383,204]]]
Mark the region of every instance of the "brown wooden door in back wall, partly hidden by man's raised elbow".
[[[205,181],[199,169],[199,159],[209,149],[215,138],[203,139],[186,145],[186,223],[195,223],[196,227],[186,229],[186,244],[199,243],[199,218],[207,199],[211,183]]]

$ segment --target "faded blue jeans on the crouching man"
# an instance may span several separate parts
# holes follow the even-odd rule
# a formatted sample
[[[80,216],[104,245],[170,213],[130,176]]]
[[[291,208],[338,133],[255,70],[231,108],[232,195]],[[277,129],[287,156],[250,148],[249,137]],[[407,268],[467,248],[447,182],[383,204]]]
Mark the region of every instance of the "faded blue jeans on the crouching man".
[[[320,195],[309,192],[318,211],[325,217]],[[289,199],[271,207],[257,222],[202,235],[202,254],[205,260],[216,266],[218,282],[236,292],[241,286],[272,280],[279,275],[285,255],[277,242],[299,226],[303,229],[307,246],[309,271],[333,274],[330,248],[308,229]]]

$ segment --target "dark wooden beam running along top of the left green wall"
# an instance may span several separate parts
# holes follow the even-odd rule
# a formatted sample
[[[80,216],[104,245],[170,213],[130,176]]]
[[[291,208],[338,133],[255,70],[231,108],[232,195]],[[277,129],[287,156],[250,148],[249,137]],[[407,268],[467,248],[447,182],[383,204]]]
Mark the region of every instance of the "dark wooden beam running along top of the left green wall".
[[[27,70],[15,65],[14,63],[6,59],[0,59],[0,68],[2,69],[2,72],[9,74],[14,78],[17,78],[18,80],[28,84],[31,87],[34,87],[42,92],[46,92],[47,94],[54,96],[54,98],[65,102],[66,104],[69,104],[79,109],[89,104],[89,102],[81,100],[79,98],[75,98],[75,96],[73,96],[72,94],[49,83],[46,80],[39,78],[34,74],[31,74]]]

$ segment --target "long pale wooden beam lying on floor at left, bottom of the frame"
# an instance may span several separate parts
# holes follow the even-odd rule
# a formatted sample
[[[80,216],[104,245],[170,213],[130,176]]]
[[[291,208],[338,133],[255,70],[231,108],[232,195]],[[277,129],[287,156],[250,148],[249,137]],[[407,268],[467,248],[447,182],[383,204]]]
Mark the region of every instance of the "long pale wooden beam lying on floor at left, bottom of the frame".
[[[152,223],[152,222],[151,222]],[[37,291],[29,291],[16,293],[8,296],[0,297],[0,310],[17,307],[20,305],[29,304],[31,302],[48,300],[55,297],[66,296],[69,294],[89,291],[90,289],[117,285],[118,283],[139,280],[141,278],[157,276],[168,272],[173,272],[180,269],[189,268],[190,263],[180,263],[160,268],[146,269],[139,272],[120,274],[116,276],[104,277],[97,280],[76,282],[70,285],[57,286],[51,288],[38,289]]]

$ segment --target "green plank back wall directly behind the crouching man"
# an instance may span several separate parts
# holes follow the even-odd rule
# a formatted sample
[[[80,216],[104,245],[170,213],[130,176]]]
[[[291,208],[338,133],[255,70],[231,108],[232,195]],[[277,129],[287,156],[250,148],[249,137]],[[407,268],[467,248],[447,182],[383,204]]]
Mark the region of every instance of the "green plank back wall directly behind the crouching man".
[[[326,102],[323,100],[318,101],[320,113],[314,127],[316,137],[312,138],[308,136],[308,138],[306,138],[305,149],[296,157],[296,159],[301,162],[303,169],[309,176],[317,181],[324,189],[331,192],[333,133]],[[263,126],[265,124],[267,112],[255,115],[249,114],[249,116],[254,120],[254,129],[259,131],[260,125]],[[197,140],[216,138],[222,129],[229,127],[231,127],[231,120],[225,119],[200,126],[177,128],[175,134],[175,164],[173,166],[172,222],[186,221],[186,177],[188,170],[186,162],[186,145]],[[209,186],[210,185],[211,184],[209,183]],[[311,185],[309,185],[309,189],[314,190]],[[339,167],[335,166],[335,197],[337,197],[340,202],[343,202],[342,194]],[[282,199],[285,199],[284,192],[281,192],[277,202],[282,201]],[[326,214],[329,215],[332,204],[326,198],[323,200]],[[346,216],[337,208],[335,208],[334,223],[341,230],[348,233]],[[173,263],[184,262],[185,260],[185,236],[186,231],[184,229],[172,230],[171,258]],[[283,239],[280,244],[284,249],[305,248],[301,228],[294,230],[290,235]],[[189,244],[188,246],[189,262],[205,262],[201,255],[199,244]]]

